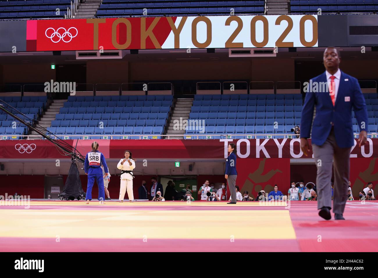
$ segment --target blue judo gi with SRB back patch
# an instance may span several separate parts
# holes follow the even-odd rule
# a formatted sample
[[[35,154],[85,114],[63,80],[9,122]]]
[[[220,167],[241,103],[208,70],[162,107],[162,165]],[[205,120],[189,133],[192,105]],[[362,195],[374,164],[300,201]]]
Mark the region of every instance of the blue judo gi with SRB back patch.
[[[95,184],[95,180],[97,181],[98,186],[98,200],[105,200],[104,177],[102,176],[101,164],[104,166],[105,173],[108,173],[109,169],[106,165],[105,157],[101,152],[88,152],[85,156],[84,171],[88,174],[87,194],[85,200],[92,200],[92,187]]]

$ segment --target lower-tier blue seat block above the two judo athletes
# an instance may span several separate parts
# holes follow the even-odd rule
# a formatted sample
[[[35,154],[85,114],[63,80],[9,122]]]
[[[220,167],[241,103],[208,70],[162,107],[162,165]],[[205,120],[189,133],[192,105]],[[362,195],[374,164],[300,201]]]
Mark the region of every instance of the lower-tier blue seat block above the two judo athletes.
[[[111,134],[118,135],[112,139],[124,138],[121,135],[161,135],[167,124],[172,101],[172,95],[69,96],[47,130],[57,135],[93,135],[88,139],[103,139],[104,136],[110,139],[106,136]],[[104,128],[100,128],[101,123]]]

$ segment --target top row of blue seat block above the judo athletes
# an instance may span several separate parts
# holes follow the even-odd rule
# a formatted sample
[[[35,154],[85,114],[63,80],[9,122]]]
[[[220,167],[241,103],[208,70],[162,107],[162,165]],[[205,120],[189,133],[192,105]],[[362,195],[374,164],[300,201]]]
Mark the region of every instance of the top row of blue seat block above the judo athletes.
[[[68,101],[144,101],[144,100],[173,100],[173,95],[143,95],[143,96],[68,96]]]

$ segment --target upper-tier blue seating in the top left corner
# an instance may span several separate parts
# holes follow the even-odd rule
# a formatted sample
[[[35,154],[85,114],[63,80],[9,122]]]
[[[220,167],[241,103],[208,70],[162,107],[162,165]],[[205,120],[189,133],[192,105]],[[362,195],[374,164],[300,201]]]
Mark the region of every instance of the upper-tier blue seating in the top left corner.
[[[1,1],[0,19],[64,18],[70,5],[71,0]]]

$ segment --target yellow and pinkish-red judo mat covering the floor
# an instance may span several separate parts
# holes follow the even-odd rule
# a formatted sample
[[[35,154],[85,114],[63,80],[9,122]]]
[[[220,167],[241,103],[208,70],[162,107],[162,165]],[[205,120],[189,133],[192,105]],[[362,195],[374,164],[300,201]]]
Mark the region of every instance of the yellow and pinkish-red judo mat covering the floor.
[[[344,217],[325,221],[310,201],[32,200],[0,206],[0,251],[376,252],[378,201],[347,202]]]

